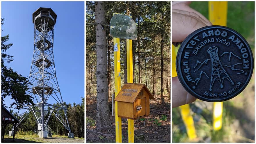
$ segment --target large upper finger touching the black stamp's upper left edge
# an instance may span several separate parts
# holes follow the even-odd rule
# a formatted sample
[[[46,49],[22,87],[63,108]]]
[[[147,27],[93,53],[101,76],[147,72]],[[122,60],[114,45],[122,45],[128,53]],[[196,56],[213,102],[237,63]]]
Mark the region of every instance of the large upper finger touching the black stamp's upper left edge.
[[[197,17],[175,12],[172,13],[172,22],[172,42],[182,42],[193,31],[207,26]]]

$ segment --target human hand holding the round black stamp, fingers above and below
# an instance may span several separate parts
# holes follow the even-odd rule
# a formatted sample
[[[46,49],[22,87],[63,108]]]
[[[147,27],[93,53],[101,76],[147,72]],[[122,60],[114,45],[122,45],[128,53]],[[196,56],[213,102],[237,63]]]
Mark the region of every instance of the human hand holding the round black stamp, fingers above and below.
[[[182,42],[190,33],[204,26],[212,25],[202,14],[188,5],[190,2],[172,2],[172,42]],[[189,104],[196,100],[180,83],[172,78],[172,107]]]

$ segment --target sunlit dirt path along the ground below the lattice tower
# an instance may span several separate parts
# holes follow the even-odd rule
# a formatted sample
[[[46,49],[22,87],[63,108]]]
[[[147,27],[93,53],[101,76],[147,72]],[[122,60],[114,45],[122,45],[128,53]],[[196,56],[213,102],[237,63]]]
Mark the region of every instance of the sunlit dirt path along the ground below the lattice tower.
[[[12,142],[12,138],[5,138],[3,143]],[[75,138],[38,138],[38,137],[17,137],[15,136],[16,143],[84,143],[83,139],[75,139]]]

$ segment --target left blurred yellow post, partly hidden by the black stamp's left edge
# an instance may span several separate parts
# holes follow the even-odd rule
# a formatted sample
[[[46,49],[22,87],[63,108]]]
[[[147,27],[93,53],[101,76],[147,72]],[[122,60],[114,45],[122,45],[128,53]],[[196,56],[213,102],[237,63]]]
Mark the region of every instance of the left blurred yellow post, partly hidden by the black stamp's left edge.
[[[174,45],[172,45],[172,77],[177,77],[176,55],[177,55],[178,49],[179,49],[178,47],[175,47]],[[189,139],[192,140],[192,139],[196,138],[197,136],[195,134],[195,125],[194,125],[193,117],[190,113],[189,104],[179,106],[179,108],[181,111],[182,120],[186,126],[186,130],[187,130]]]

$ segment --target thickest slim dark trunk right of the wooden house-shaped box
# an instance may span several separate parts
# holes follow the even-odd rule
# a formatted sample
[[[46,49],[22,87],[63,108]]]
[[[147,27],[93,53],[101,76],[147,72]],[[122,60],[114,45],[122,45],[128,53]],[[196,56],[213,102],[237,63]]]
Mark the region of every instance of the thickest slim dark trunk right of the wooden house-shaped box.
[[[163,98],[163,43],[164,43],[164,31],[161,34],[161,104],[164,104]]]

